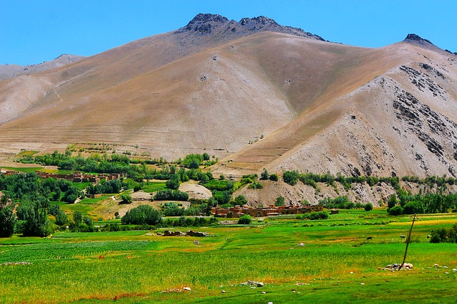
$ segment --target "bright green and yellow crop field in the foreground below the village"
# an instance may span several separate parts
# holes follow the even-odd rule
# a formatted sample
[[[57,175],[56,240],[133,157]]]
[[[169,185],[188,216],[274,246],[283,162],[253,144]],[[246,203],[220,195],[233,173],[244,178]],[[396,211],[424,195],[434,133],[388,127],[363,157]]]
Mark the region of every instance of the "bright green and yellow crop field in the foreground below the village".
[[[204,238],[164,229],[13,236],[0,239],[0,303],[455,303],[457,244],[427,236],[457,214],[419,216],[413,269],[384,270],[403,261],[411,221],[375,209],[194,228]]]

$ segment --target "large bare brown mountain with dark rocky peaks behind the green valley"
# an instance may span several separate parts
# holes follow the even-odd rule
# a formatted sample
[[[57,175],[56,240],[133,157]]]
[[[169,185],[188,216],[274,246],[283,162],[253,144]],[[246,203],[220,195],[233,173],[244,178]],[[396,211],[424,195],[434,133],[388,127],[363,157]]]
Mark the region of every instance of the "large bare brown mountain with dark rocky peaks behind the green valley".
[[[2,150],[208,152],[214,174],[457,174],[457,56],[410,34],[324,41],[260,16],[176,31],[0,82]]]

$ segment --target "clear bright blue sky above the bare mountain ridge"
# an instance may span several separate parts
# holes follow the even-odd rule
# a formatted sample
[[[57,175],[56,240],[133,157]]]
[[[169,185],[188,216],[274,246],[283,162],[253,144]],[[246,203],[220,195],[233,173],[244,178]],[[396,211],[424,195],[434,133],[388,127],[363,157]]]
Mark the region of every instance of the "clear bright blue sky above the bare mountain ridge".
[[[378,47],[416,33],[457,52],[456,0],[0,0],[0,64],[91,56],[173,31],[196,14],[267,16],[329,41]]]

